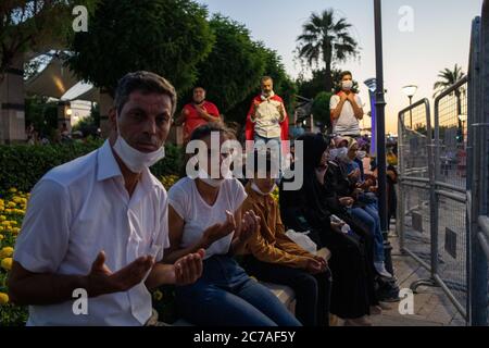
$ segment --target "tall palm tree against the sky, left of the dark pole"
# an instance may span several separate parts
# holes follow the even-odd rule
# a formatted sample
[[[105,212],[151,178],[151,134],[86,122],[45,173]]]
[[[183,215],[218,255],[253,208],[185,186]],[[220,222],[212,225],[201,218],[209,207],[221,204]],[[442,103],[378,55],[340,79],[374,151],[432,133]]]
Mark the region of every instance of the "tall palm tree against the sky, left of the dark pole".
[[[333,9],[321,14],[313,13],[302,25],[302,35],[297,38],[299,58],[310,66],[324,63],[326,72],[326,91],[333,89],[333,62],[343,62],[359,54],[358,42],[350,35],[351,24],[346,18],[335,20]]]

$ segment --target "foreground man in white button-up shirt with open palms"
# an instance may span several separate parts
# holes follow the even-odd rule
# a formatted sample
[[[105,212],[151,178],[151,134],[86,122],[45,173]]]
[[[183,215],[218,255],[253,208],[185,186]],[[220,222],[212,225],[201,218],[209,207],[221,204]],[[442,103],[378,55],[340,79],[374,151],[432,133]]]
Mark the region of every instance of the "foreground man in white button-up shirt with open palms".
[[[98,150],[48,172],[35,186],[9,279],[28,325],[145,325],[148,288],[191,284],[203,250],[162,264],[166,190],[149,166],[164,157],[174,87],[148,72],[124,76]],[[82,296],[82,298],[80,298]],[[77,307],[83,297],[86,307]]]

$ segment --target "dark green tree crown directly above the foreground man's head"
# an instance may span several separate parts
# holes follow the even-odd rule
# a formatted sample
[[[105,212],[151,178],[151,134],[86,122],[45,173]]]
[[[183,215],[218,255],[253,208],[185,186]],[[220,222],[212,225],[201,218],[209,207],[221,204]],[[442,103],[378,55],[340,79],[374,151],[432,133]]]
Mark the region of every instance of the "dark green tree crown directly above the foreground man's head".
[[[197,64],[214,36],[206,9],[191,0],[104,0],[77,33],[70,67],[84,80],[113,95],[128,72],[147,70],[185,92],[197,79]]]

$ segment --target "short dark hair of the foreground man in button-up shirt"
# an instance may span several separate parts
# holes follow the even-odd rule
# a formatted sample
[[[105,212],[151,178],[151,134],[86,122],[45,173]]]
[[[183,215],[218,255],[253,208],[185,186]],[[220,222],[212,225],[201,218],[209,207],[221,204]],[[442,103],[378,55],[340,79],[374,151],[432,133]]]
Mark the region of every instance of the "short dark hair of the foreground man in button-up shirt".
[[[168,96],[172,100],[172,116],[175,113],[177,102],[175,87],[164,77],[145,71],[128,73],[118,80],[114,98],[114,105],[118,113],[129,100],[130,94],[136,90],[142,94],[156,92]]]

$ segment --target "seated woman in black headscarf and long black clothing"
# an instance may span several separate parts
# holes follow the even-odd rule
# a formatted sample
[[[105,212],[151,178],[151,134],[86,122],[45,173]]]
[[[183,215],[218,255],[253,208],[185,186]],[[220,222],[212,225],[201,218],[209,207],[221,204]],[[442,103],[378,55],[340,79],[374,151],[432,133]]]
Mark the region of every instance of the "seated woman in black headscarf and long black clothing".
[[[284,189],[284,182],[280,185],[284,224],[296,231],[311,231],[310,236],[318,247],[331,251],[328,262],[333,273],[330,312],[346,319],[347,325],[372,325],[366,315],[371,306],[378,303],[371,268],[372,240],[360,224],[341,213],[340,202],[326,189],[328,141],[321,134],[304,134],[297,140],[302,140],[303,153],[299,153],[296,142],[293,170],[296,175],[300,174],[297,171],[302,171],[303,184],[299,190]],[[350,231],[331,220],[331,210],[337,210],[336,215],[341,215]]]

